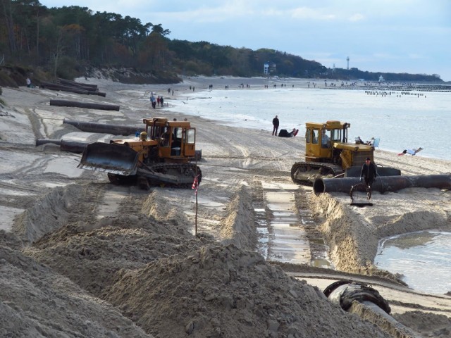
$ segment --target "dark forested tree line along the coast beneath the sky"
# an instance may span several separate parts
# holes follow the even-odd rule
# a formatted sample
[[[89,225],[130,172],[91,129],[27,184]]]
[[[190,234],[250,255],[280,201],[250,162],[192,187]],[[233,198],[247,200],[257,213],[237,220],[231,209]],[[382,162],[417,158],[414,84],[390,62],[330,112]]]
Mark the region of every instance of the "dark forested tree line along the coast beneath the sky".
[[[378,80],[381,73],[333,71],[316,61],[274,49],[233,48],[209,42],[169,39],[159,24],[87,7],[47,8],[38,0],[0,0],[0,62],[40,68],[53,77],[73,79],[89,67],[134,68],[156,78],[182,75],[270,75],[304,78]],[[437,81],[437,75],[397,74],[392,80]],[[409,77],[408,79],[406,77]]]

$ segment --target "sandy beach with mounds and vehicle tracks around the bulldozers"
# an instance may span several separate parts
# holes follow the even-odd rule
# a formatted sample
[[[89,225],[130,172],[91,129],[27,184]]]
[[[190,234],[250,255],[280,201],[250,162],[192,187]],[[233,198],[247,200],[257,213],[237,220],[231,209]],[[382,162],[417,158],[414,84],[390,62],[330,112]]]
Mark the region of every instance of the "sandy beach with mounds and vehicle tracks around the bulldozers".
[[[292,183],[304,156],[293,138],[247,130],[165,108],[212,84],[263,89],[262,78],[192,77],[180,84],[131,85],[102,78],[106,97],[47,89],[3,88],[0,110],[1,337],[451,337],[451,290],[406,287],[373,264],[378,241],[419,230],[451,231],[451,192],[408,188],[373,193],[371,208],[347,194],[316,196]],[[307,81],[307,80],[306,80]],[[290,86],[290,81],[286,84]],[[171,91],[168,91],[168,89]],[[173,94],[172,94],[173,91]],[[120,111],[50,106],[51,99],[115,104]],[[195,104],[187,101],[187,104]],[[191,189],[110,184],[80,170],[80,154],[36,139],[105,141],[63,120],[136,125],[142,118],[187,118],[202,149],[202,183]],[[376,149],[375,161],[403,175],[450,173],[451,162]],[[256,208],[264,189],[307,201],[335,269],[266,261],[257,251]],[[297,209],[297,208],[295,208]],[[295,210],[294,213],[297,213]],[[264,217],[273,215],[266,212]],[[370,284],[399,327],[343,311],[323,295],[342,279]]]

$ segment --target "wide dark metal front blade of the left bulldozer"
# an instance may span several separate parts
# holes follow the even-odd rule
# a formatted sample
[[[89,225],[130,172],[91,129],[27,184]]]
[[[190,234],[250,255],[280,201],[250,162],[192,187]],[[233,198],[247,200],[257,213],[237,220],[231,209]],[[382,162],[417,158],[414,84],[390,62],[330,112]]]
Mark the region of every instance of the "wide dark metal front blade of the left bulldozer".
[[[77,168],[118,175],[135,175],[138,153],[128,146],[96,142],[88,144]]]

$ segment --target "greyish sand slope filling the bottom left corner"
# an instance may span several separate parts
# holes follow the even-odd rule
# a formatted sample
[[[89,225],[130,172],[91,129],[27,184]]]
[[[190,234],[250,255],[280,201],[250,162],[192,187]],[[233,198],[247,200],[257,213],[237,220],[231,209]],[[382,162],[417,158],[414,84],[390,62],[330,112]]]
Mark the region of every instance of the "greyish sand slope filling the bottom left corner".
[[[151,337],[109,303],[0,236],[1,337]]]

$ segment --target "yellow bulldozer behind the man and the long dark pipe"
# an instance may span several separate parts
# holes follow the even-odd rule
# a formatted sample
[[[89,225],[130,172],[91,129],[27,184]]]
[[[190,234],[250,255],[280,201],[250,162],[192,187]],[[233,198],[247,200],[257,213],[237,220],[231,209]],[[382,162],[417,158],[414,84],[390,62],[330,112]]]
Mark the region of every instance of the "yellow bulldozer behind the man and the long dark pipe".
[[[310,185],[316,178],[359,177],[365,159],[369,157],[373,161],[374,147],[348,143],[350,126],[350,123],[340,121],[306,123],[305,161],[292,165],[293,182]],[[378,165],[378,175],[401,175],[401,171]]]

